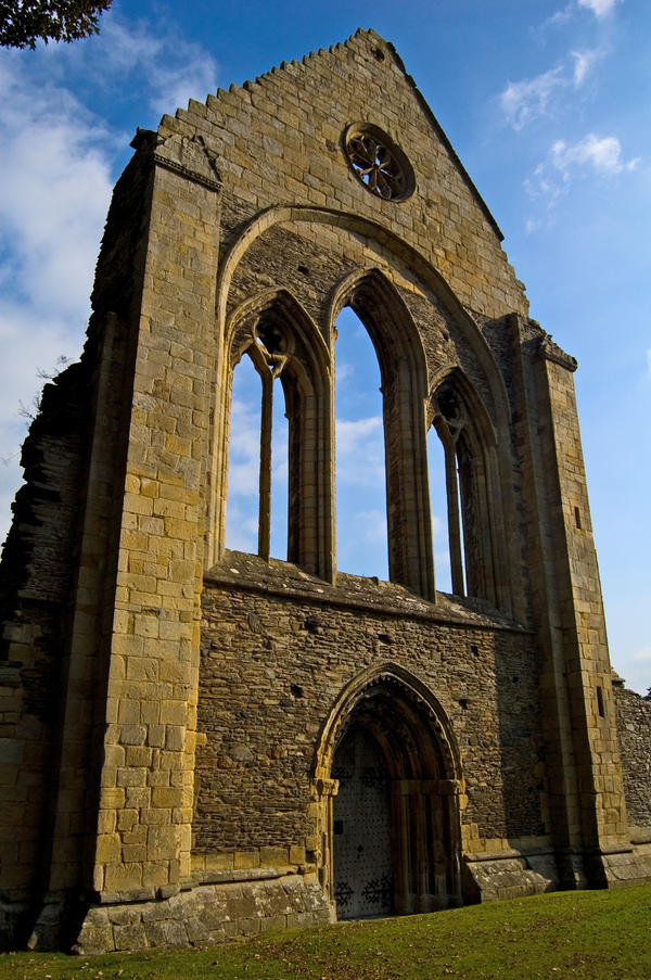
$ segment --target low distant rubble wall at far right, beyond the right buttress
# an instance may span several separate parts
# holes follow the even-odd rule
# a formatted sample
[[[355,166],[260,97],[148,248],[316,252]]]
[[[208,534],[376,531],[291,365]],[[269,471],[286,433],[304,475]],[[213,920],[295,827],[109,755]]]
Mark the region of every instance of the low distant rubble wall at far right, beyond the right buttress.
[[[628,822],[651,839],[651,700],[613,684]],[[635,832],[635,831],[634,831]]]

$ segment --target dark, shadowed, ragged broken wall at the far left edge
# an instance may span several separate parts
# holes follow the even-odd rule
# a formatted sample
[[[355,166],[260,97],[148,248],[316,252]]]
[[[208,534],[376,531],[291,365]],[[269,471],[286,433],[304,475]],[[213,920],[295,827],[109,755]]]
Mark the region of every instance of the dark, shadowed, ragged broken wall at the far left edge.
[[[42,394],[22,451],[28,482],[16,495],[0,564],[0,921],[47,861],[47,807],[56,781],[62,647],[74,576],[87,376],[68,368]]]

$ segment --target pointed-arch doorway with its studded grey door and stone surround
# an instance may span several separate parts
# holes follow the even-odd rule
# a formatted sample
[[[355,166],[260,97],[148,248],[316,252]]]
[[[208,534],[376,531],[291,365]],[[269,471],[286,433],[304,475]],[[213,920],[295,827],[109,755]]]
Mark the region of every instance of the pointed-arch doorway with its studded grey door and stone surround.
[[[326,726],[323,882],[337,918],[462,904],[459,754],[429,689],[396,664],[365,671]]]

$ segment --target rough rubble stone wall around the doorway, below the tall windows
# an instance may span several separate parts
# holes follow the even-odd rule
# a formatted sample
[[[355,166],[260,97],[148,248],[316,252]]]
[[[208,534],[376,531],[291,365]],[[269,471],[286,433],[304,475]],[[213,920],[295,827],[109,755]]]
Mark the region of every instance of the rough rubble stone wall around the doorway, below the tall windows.
[[[472,603],[444,608],[436,614],[399,587],[347,575],[324,588],[290,565],[229,552],[204,593],[195,853],[226,852],[232,863],[248,852],[264,865],[302,863],[307,851],[314,861],[319,733],[343,686],[386,661],[421,677],[452,722],[470,850],[544,836],[532,637]]]

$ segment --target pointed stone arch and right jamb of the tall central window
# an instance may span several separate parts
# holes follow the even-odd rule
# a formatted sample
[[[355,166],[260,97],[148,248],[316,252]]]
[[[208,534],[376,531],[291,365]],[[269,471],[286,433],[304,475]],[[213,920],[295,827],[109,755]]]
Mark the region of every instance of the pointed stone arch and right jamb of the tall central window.
[[[337,285],[329,313],[332,342],[333,324],[344,306],[366,327],[380,365],[388,577],[435,601],[423,408],[427,373],[422,342],[398,291],[380,269],[359,269]]]

